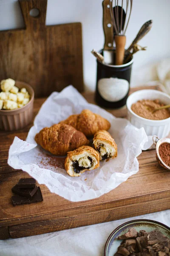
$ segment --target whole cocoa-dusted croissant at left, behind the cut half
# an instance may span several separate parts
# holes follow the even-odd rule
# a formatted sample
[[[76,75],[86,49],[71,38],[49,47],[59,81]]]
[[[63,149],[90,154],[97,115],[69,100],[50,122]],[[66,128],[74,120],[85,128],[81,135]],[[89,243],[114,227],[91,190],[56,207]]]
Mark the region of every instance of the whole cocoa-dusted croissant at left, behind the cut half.
[[[82,132],[66,124],[43,128],[36,134],[35,141],[42,148],[57,156],[65,156],[68,151],[89,144],[89,140]]]

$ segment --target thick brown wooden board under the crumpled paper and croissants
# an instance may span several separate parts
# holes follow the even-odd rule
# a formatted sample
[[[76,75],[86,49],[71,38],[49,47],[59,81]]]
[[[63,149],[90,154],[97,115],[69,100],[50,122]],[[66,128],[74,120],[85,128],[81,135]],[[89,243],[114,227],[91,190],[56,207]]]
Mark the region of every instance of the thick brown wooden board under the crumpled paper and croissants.
[[[83,95],[94,102],[93,94]],[[34,116],[44,101],[45,98],[35,100]],[[126,109],[110,112],[115,116],[126,115]],[[156,162],[155,150],[142,152],[138,157],[139,172],[99,198],[70,202],[40,185],[43,202],[13,207],[11,188],[20,178],[29,175],[8,166],[8,149],[14,136],[25,140],[31,126],[32,123],[20,131],[0,132],[0,239],[33,236],[170,209],[170,172]]]

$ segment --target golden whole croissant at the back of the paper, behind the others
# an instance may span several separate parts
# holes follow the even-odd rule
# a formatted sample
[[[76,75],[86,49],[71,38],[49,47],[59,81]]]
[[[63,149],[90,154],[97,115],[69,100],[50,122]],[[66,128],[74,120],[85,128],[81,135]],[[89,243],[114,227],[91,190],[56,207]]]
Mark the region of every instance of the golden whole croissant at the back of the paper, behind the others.
[[[93,136],[99,130],[108,130],[111,127],[108,120],[88,109],[78,115],[71,115],[60,123],[73,126],[87,137]]]

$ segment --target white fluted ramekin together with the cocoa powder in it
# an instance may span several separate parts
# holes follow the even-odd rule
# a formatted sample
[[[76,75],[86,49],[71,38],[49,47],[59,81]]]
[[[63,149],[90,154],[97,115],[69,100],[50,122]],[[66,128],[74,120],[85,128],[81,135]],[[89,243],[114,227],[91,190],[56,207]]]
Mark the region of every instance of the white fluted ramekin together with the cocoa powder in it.
[[[156,108],[170,105],[170,96],[158,90],[138,90],[127,99],[127,119],[137,128],[144,128],[146,134],[164,138],[170,132],[170,108]]]

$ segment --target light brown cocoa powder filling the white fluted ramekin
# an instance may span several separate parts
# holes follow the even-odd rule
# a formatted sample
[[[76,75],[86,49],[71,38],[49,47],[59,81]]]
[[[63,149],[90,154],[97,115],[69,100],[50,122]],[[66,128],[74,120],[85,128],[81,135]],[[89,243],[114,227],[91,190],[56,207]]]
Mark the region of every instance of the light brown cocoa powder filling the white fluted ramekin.
[[[141,116],[150,120],[162,120],[170,117],[170,111],[167,108],[160,109],[154,113],[152,111],[156,108],[164,106],[163,103],[159,102],[159,99],[142,99],[133,103],[131,109],[136,115]]]

